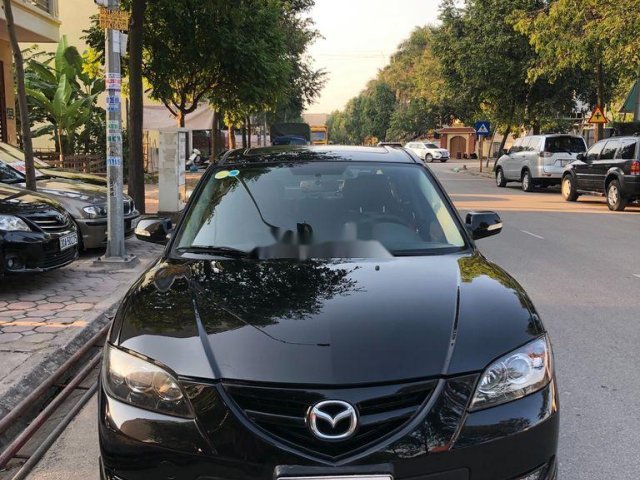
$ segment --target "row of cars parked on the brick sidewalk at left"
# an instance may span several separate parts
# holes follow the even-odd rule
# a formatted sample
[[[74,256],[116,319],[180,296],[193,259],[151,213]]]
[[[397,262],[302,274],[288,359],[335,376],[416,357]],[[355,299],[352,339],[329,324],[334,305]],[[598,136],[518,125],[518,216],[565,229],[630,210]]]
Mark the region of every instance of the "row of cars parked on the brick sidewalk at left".
[[[0,275],[46,271],[107,242],[108,191],[104,178],[54,169],[36,161],[38,193],[24,190],[22,151],[0,143]],[[124,196],[125,236],[140,213]]]

